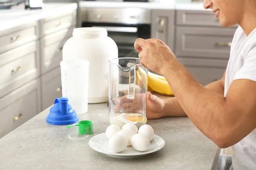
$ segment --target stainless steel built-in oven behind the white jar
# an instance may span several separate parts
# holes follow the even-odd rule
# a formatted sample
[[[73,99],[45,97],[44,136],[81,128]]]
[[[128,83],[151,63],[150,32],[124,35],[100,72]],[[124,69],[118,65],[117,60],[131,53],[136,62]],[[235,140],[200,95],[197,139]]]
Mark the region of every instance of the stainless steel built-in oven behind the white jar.
[[[141,8],[82,8],[82,27],[102,27],[118,47],[118,57],[138,57],[137,38],[151,37],[151,10]]]

